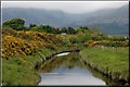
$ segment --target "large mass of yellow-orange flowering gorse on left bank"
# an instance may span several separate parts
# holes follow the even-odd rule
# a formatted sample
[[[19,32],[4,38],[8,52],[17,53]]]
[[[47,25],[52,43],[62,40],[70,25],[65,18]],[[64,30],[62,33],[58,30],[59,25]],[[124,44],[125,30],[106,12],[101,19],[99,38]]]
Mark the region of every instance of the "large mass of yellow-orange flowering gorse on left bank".
[[[58,37],[48,33],[3,29],[2,34],[2,58],[5,59],[17,53],[30,55],[43,48],[57,50],[63,44]]]

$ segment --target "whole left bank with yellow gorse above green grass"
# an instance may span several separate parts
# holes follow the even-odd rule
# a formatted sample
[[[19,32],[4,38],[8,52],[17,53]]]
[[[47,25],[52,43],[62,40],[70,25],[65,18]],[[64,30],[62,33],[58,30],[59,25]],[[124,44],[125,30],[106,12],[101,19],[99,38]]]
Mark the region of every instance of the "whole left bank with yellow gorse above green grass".
[[[38,33],[2,30],[2,85],[27,86],[40,82],[38,69],[55,52],[76,49],[60,36]]]

